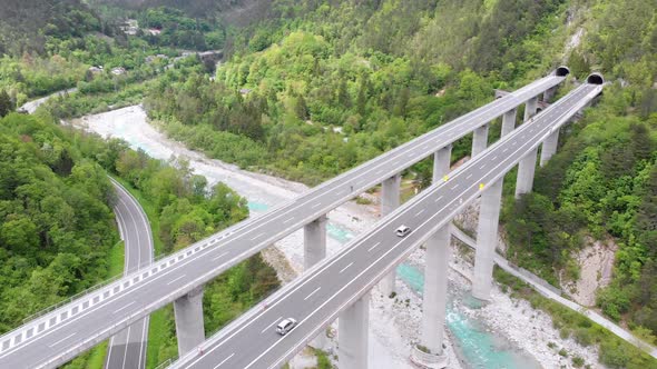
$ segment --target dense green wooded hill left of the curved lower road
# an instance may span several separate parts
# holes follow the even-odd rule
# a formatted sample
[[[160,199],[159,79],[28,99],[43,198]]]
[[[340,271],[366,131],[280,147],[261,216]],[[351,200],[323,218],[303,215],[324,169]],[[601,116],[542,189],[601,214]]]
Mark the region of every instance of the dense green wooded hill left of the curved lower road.
[[[114,190],[55,127],[0,119],[0,331],[107,278]]]

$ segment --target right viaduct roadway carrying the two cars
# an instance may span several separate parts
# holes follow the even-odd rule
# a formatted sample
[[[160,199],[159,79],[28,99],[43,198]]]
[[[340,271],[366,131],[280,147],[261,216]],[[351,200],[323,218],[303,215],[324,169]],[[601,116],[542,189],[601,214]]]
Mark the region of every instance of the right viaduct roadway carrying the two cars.
[[[522,124],[489,150],[433,184],[374,229],[318,263],[301,278],[202,345],[203,356],[192,352],[173,368],[273,368],[290,359],[337,313],[366,293],[383,276],[406,258],[431,233],[451,221],[489,184],[502,178],[550,132],[572,117],[601,91],[585,84],[541,114]],[[480,188],[483,183],[483,189]],[[399,238],[401,225],[412,232]],[[275,325],[293,317],[298,326],[285,337]]]

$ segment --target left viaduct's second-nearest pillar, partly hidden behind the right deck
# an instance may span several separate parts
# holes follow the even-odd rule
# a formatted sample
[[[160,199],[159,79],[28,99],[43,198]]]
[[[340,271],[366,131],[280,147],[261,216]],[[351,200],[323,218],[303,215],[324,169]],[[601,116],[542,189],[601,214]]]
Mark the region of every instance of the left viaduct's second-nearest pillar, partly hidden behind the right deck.
[[[311,267],[322,261],[326,257],[326,216],[313,220],[303,228],[303,267],[308,270]],[[321,332],[313,339],[310,346],[322,349],[326,346],[327,339],[324,332]]]

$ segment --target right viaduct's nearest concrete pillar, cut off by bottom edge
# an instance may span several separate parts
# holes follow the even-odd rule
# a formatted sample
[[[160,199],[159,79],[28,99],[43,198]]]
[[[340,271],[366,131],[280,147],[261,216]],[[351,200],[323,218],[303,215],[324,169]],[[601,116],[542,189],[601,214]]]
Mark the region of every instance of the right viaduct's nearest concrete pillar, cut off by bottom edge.
[[[370,293],[340,313],[337,319],[337,360],[340,369],[367,368]]]

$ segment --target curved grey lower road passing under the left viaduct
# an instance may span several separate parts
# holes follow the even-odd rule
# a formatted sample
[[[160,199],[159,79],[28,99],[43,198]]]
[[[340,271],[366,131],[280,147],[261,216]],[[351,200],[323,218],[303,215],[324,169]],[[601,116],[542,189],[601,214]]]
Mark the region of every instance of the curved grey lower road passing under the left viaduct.
[[[126,249],[124,270],[125,275],[129,275],[153,261],[153,235],[139,202],[119,182],[110,180],[117,193],[114,209]],[[147,341],[148,317],[110,338],[105,368],[145,368]]]

